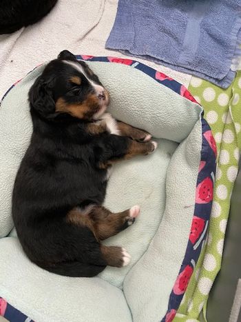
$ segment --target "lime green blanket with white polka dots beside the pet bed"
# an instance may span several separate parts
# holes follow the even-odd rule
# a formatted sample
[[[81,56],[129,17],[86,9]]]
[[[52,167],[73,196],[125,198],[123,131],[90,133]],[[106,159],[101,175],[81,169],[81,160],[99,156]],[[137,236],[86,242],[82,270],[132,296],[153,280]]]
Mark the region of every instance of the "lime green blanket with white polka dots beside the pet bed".
[[[207,299],[222,259],[233,183],[238,174],[241,149],[241,72],[227,90],[191,78],[189,91],[202,104],[218,148],[216,188],[207,241],[174,321],[205,318]]]

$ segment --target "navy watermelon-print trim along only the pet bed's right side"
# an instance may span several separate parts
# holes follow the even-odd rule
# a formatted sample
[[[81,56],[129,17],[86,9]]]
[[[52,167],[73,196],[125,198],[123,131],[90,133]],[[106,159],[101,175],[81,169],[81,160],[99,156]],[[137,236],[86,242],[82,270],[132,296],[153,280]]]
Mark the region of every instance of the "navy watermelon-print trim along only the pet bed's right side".
[[[185,258],[182,261],[178,278],[176,279],[176,283],[170,294],[167,314],[162,319],[162,322],[171,322],[174,319],[174,310],[178,310],[179,308],[207,237],[216,169],[215,149],[213,151],[213,148],[211,148],[211,145],[206,139],[207,132],[211,132],[209,125],[205,119],[202,119],[202,152],[193,221],[191,223]],[[172,312],[172,314],[170,314],[170,312]]]

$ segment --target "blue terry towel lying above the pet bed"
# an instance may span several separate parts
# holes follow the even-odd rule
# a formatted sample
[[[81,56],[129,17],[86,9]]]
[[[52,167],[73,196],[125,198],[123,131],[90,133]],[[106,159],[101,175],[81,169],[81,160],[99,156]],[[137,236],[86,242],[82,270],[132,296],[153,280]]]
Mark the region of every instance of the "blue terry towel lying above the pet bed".
[[[241,0],[119,0],[106,48],[227,88],[241,56]]]

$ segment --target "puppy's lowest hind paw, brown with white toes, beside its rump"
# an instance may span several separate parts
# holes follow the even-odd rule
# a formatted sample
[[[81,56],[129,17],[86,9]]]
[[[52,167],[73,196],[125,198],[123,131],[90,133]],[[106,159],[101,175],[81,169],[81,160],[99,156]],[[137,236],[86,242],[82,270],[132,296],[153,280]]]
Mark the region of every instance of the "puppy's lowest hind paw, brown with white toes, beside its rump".
[[[131,256],[125,248],[101,245],[101,254],[107,265],[121,268],[129,264]]]

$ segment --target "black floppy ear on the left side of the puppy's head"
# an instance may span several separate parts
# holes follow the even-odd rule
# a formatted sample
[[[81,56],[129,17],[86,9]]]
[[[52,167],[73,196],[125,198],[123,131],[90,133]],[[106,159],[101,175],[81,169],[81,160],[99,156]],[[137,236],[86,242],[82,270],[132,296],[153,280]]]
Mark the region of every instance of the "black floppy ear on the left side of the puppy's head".
[[[36,79],[28,93],[31,109],[47,119],[53,117],[55,113],[55,102],[52,96],[53,85],[54,79],[45,81],[40,76]]]

